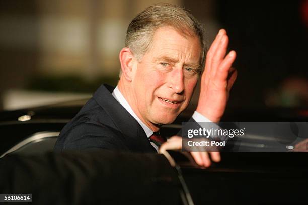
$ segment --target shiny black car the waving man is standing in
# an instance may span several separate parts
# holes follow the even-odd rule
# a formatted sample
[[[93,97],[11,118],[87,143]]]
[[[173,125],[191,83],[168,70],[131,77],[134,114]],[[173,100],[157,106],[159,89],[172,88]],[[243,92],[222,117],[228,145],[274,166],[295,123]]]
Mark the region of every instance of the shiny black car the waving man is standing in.
[[[1,157],[52,151],[59,132],[86,100],[2,112]],[[161,133],[175,135],[192,111],[185,111],[173,124],[163,126]],[[307,121],[307,111],[227,109],[223,121]],[[254,147],[262,140],[260,136],[245,146]],[[222,152],[222,161],[207,169],[198,167],[189,156],[177,152],[171,155],[178,164],[183,204],[308,204],[308,153]]]

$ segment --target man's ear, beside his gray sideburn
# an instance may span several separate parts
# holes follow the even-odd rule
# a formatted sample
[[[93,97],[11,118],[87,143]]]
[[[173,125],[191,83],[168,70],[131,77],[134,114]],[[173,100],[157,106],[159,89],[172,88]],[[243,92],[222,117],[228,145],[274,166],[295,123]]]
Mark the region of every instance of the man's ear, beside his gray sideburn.
[[[133,61],[134,55],[131,50],[127,47],[122,48],[119,54],[122,75],[126,80],[131,81],[133,76]]]

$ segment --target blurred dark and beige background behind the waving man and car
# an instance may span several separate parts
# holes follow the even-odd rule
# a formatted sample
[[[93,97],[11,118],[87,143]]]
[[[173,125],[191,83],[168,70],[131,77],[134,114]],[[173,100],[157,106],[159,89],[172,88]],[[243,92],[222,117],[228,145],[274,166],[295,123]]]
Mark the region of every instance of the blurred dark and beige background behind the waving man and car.
[[[129,22],[159,2],[2,1],[0,109],[90,97],[102,83],[116,85]],[[227,30],[239,71],[229,108],[308,107],[308,1],[164,2],[190,10],[209,43]]]

